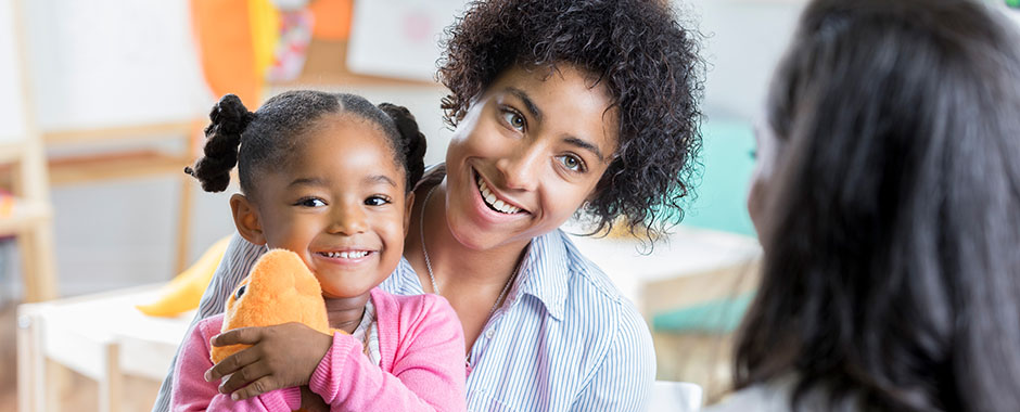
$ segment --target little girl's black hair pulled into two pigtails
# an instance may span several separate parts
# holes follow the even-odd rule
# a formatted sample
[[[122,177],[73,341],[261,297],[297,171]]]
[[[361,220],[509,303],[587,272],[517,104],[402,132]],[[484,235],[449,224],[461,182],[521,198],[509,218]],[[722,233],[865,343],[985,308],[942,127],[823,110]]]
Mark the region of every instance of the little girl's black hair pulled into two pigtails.
[[[415,188],[424,172],[425,137],[407,108],[390,103],[375,106],[359,95],[315,90],[280,93],[254,113],[237,95],[222,96],[209,113],[205,155],[194,168],[186,167],[184,172],[194,176],[206,192],[222,192],[237,164],[241,191],[252,194],[255,173],[294,162],[301,138],[317,126],[316,120],[330,113],[353,114],[379,127],[387,138],[394,159],[406,171],[405,190]]]

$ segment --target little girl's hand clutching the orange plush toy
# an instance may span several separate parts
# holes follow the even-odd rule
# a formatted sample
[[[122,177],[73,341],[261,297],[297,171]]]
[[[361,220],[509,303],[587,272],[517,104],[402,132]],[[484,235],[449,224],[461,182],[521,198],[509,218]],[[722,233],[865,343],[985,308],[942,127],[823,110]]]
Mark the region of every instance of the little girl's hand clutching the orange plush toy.
[[[205,372],[205,381],[229,377],[219,385],[231,399],[252,398],[271,390],[308,385],[311,373],[333,345],[333,336],[301,323],[241,327],[216,335],[213,346],[252,345]]]

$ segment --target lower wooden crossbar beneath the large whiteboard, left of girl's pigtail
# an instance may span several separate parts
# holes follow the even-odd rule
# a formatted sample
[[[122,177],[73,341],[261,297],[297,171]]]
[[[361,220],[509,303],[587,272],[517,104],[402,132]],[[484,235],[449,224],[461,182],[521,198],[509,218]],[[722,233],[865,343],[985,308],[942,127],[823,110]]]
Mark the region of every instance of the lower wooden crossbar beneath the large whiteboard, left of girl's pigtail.
[[[141,178],[155,175],[183,175],[190,156],[160,151],[135,151],[94,156],[50,159],[50,183],[84,183],[110,179]]]

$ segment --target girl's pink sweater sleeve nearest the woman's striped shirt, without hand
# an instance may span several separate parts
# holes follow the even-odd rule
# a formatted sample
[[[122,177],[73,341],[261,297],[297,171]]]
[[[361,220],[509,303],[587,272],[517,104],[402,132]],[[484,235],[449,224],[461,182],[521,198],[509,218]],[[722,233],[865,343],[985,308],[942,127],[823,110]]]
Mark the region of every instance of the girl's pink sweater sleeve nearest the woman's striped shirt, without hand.
[[[333,411],[464,411],[464,338],[457,313],[436,295],[405,298],[394,317],[378,319],[382,366],[362,344],[334,334],[309,388]],[[377,307],[380,305],[377,304]],[[392,364],[387,364],[392,359]]]

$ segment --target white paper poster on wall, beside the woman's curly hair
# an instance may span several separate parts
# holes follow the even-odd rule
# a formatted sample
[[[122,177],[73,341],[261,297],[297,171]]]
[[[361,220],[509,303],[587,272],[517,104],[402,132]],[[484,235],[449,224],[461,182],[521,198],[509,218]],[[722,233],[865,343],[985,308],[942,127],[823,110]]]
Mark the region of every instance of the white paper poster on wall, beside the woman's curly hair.
[[[443,29],[461,15],[464,0],[355,1],[347,44],[350,72],[431,81]]]

